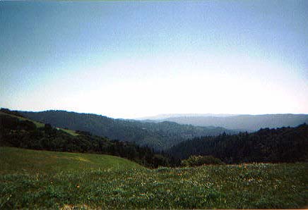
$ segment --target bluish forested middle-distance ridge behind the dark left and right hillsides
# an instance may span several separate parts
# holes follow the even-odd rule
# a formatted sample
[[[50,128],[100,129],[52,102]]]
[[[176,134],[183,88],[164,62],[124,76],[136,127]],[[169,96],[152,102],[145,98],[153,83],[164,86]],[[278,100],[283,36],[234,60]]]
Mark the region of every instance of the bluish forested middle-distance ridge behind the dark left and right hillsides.
[[[50,123],[71,130],[85,130],[112,140],[136,142],[138,145],[147,145],[158,150],[168,149],[193,137],[219,135],[223,132],[235,133],[232,130],[213,126],[179,125],[172,122],[146,123],[107,118],[90,113],[68,111],[20,111],[20,113],[27,118],[42,123]]]

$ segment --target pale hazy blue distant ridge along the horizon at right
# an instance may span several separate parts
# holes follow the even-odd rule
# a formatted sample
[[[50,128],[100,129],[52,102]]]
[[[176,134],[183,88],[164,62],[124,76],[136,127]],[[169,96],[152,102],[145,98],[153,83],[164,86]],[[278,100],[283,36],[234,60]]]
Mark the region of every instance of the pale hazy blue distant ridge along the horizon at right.
[[[168,115],[166,115],[168,116]],[[151,118],[149,118],[150,120]],[[182,125],[215,126],[230,130],[255,131],[261,128],[295,127],[308,123],[308,114],[264,114],[264,115],[187,115],[170,116],[155,121],[170,121]]]

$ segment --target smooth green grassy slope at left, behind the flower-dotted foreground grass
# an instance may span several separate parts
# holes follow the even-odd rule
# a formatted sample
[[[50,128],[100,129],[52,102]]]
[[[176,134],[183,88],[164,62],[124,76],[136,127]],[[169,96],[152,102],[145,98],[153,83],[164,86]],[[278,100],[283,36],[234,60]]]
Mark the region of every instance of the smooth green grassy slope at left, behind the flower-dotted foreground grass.
[[[0,147],[0,173],[78,172],[98,169],[143,168],[127,159],[100,154],[47,152],[14,147]]]

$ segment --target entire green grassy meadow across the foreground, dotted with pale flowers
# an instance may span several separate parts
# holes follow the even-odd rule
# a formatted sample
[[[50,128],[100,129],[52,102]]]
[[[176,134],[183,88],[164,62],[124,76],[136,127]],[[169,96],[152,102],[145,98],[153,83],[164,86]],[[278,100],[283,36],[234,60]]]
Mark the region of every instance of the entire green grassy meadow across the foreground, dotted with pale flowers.
[[[49,160],[67,153],[2,147],[0,154],[0,209],[284,209],[304,208],[308,200],[308,163],[150,170],[133,163],[100,168],[99,157],[71,154],[81,166],[68,156],[55,170]],[[97,165],[87,168],[81,159]]]

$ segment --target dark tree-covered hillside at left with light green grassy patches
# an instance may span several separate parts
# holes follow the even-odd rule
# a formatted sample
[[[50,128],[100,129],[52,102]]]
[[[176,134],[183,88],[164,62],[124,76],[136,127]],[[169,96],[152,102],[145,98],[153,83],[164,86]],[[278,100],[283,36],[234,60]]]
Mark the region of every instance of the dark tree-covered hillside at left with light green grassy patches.
[[[84,131],[53,128],[50,124],[30,121],[16,114],[3,109],[0,111],[0,147],[111,154],[148,167],[173,166],[177,163],[148,147],[112,141]]]

